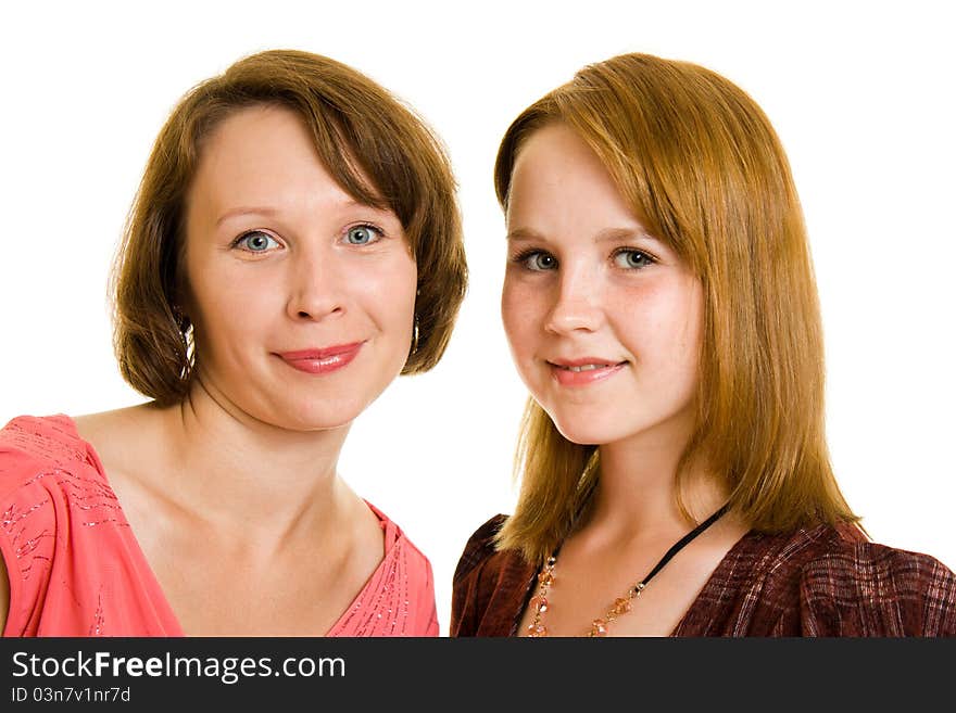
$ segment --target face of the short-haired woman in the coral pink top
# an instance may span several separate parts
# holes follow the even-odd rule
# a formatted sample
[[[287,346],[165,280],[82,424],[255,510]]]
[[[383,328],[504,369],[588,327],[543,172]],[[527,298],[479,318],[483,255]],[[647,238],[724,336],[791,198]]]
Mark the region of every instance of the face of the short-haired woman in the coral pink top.
[[[207,137],[186,307],[197,377],[229,410],[293,430],[351,422],[405,362],[416,276],[398,217],[336,183],[298,115],[244,109]]]

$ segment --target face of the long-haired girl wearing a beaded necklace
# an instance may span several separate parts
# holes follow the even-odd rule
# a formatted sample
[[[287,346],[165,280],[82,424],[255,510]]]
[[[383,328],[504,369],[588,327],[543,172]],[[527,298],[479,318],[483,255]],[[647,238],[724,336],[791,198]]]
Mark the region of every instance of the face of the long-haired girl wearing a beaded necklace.
[[[701,282],[573,130],[550,125],[526,140],[506,222],[502,318],[521,379],[558,431],[598,445],[687,438]]]

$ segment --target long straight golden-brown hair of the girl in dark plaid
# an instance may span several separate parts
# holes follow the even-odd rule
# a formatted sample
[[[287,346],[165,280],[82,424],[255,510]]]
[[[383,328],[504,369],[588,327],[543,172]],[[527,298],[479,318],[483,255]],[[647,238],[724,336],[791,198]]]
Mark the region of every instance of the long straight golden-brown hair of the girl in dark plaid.
[[[823,336],[803,212],[764,112],[694,64],[624,54],[586,66],[505,132],[494,166],[505,211],[523,142],[553,123],[590,145],[647,230],[703,285],[696,425],[678,468],[688,520],[680,494],[689,466],[703,463],[754,530],[857,522],[826,443]],[[586,507],[599,450],[564,438],[529,399],[515,475],[518,502],[496,546],[540,561]]]

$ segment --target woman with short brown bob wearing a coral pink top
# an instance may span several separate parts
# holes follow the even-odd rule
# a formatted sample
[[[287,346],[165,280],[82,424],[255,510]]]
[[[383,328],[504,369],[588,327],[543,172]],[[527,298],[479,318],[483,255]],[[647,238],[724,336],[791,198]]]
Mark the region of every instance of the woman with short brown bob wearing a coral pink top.
[[[437,635],[428,559],[336,463],[466,279],[445,153],[377,84],[277,50],[189,91],[115,270],[151,402],[0,431],[4,634]]]

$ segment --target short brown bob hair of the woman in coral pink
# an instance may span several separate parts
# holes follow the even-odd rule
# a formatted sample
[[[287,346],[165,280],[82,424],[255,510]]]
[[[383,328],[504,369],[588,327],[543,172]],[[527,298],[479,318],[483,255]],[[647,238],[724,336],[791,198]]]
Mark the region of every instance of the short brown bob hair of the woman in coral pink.
[[[416,348],[403,374],[438,364],[467,288],[456,186],[438,137],[410,107],[326,56],[271,50],[191,89],[155,140],[113,269],[114,348],[123,378],[160,405],[186,396],[194,355],[184,294],[186,196],[203,140],[237,111],[293,111],[331,176],[355,200],[391,209],[418,267]]]

